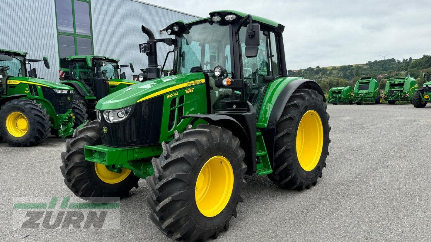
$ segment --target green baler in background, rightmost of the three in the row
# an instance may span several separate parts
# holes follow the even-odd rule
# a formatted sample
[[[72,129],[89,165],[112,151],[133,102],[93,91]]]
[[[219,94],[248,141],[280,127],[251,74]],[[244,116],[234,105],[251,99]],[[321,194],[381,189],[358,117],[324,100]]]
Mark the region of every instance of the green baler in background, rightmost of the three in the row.
[[[416,89],[418,85],[412,77],[391,78],[386,83],[383,97],[389,104],[395,104],[397,101],[412,102]]]

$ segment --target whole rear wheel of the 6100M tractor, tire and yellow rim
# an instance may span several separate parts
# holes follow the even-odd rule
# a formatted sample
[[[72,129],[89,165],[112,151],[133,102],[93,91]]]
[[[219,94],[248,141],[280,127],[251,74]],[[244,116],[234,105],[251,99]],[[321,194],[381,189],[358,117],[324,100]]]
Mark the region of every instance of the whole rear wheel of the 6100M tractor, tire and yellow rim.
[[[329,154],[328,120],[322,96],[311,89],[297,89],[276,124],[274,172],[269,179],[287,189],[315,185]]]

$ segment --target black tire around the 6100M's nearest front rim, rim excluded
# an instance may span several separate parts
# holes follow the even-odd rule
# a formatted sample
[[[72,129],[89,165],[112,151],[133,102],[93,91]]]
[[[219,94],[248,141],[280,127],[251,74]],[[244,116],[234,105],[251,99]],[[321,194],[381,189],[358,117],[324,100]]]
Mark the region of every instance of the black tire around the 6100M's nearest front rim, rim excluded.
[[[198,125],[174,140],[163,143],[159,159],[153,158],[154,175],[147,177],[151,194],[147,196],[150,218],[166,236],[185,241],[205,242],[217,238],[222,229],[228,230],[236,207],[242,202],[241,190],[247,166],[239,140],[227,129],[212,125]],[[212,156],[228,158],[234,174],[231,196],[223,210],[214,217],[205,217],[197,208],[195,187],[197,176]]]

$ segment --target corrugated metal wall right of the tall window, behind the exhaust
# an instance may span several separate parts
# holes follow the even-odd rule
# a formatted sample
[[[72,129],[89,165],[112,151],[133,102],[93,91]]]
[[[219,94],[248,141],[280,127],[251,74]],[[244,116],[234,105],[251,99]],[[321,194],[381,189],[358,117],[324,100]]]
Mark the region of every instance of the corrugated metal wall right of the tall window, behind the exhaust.
[[[120,64],[133,62],[135,74],[140,68],[147,67],[147,55],[139,53],[139,44],[147,41],[141,25],[153,31],[156,38],[169,38],[166,32],[159,33],[174,21],[192,21],[195,16],[186,15],[132,0],[91,0],[93,21],[94,54],[107,55],[120,60]],[[166,53],[173,49],[164,43],[157,43],[158,61],[163,64]],[[173,53],[169,55],[166,66],[172,67]],[[123,68],[126,77],[132,72]]]

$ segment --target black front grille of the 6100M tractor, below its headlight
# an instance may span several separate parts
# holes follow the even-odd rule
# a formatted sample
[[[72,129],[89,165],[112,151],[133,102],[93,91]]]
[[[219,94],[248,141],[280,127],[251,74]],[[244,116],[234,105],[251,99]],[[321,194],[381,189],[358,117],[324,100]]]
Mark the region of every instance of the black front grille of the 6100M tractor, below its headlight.
[[[118,123],[108,123],[102,115],[102,143],[111,147],[159,144],[162,105],[163,96],[134,104],[129,116]]]

